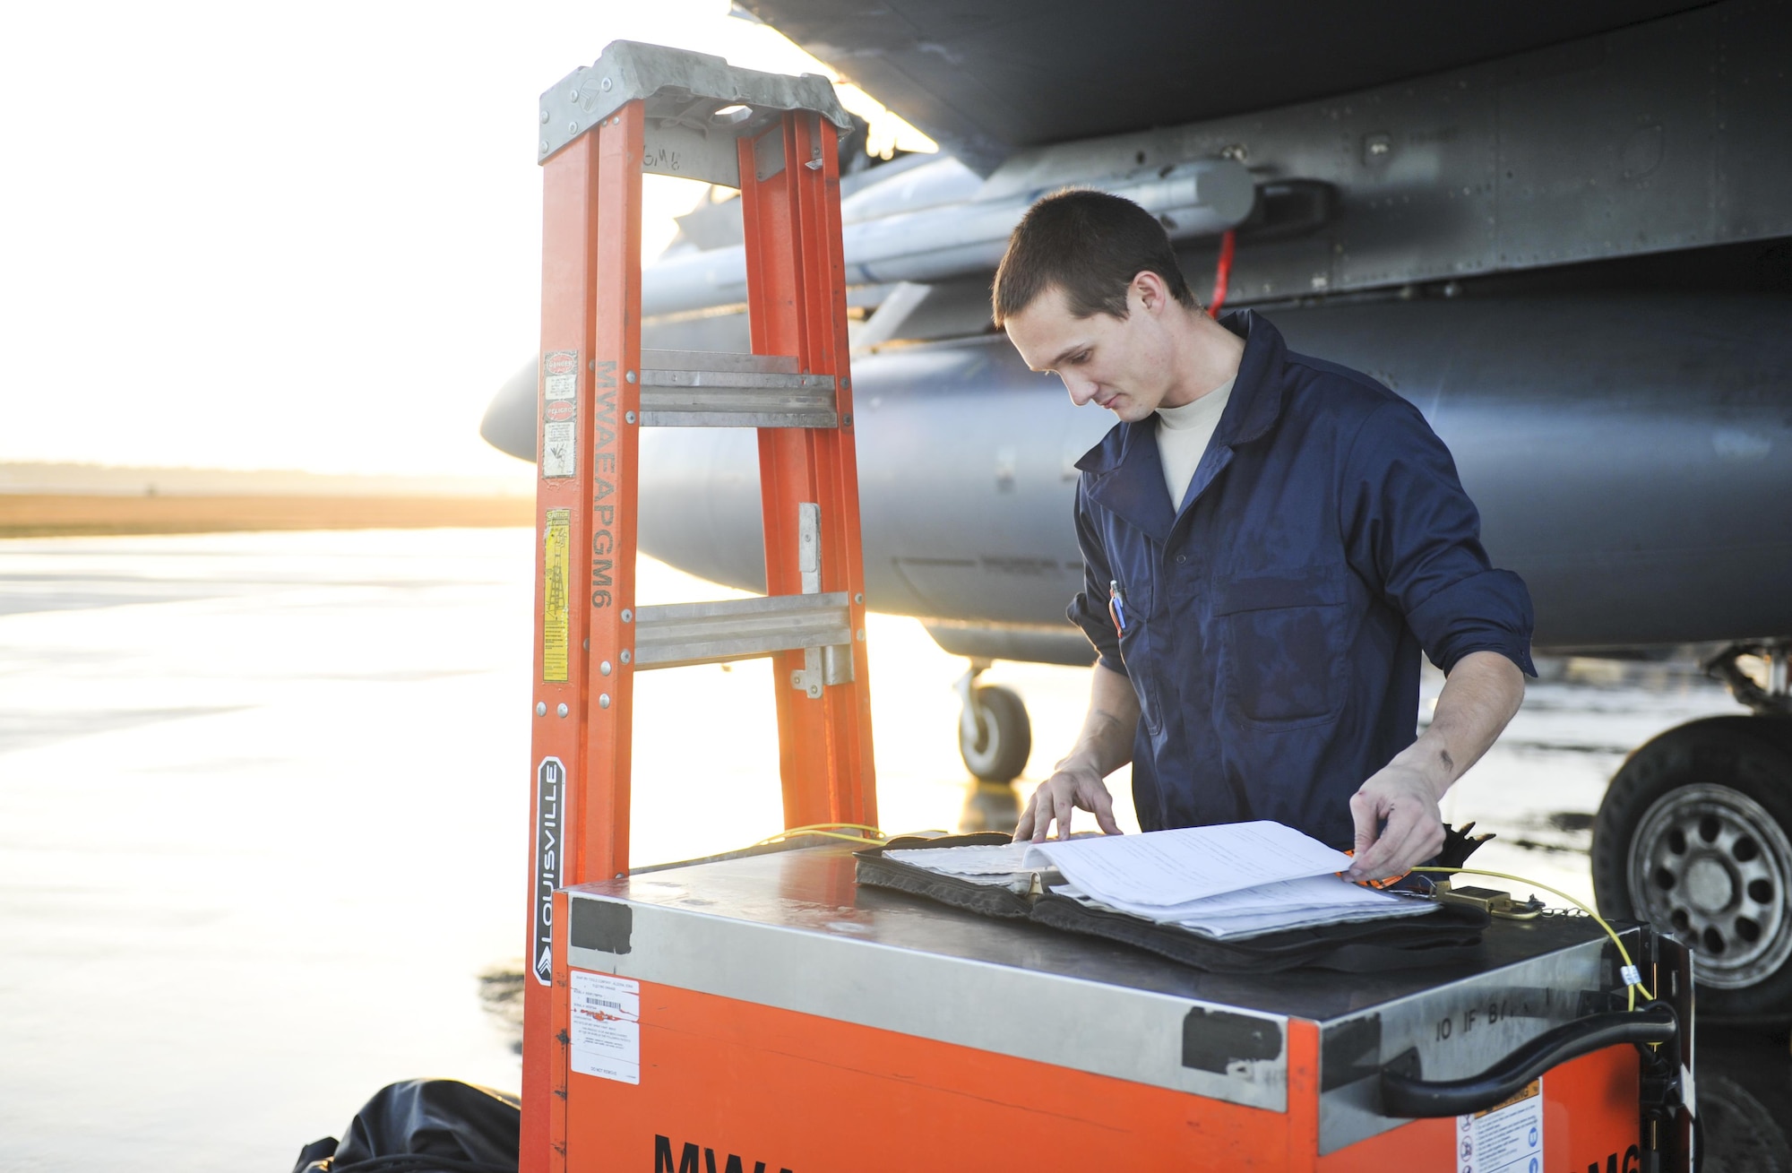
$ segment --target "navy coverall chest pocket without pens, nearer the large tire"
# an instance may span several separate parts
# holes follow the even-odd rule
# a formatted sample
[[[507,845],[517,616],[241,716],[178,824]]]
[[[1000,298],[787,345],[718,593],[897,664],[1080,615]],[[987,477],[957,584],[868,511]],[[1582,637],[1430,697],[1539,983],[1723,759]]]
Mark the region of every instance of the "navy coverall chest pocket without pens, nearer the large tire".
[[[1342,567],[1219,583],[1213,615],[1238,716],[1274,728],[1337,719],[1351,676]]]

